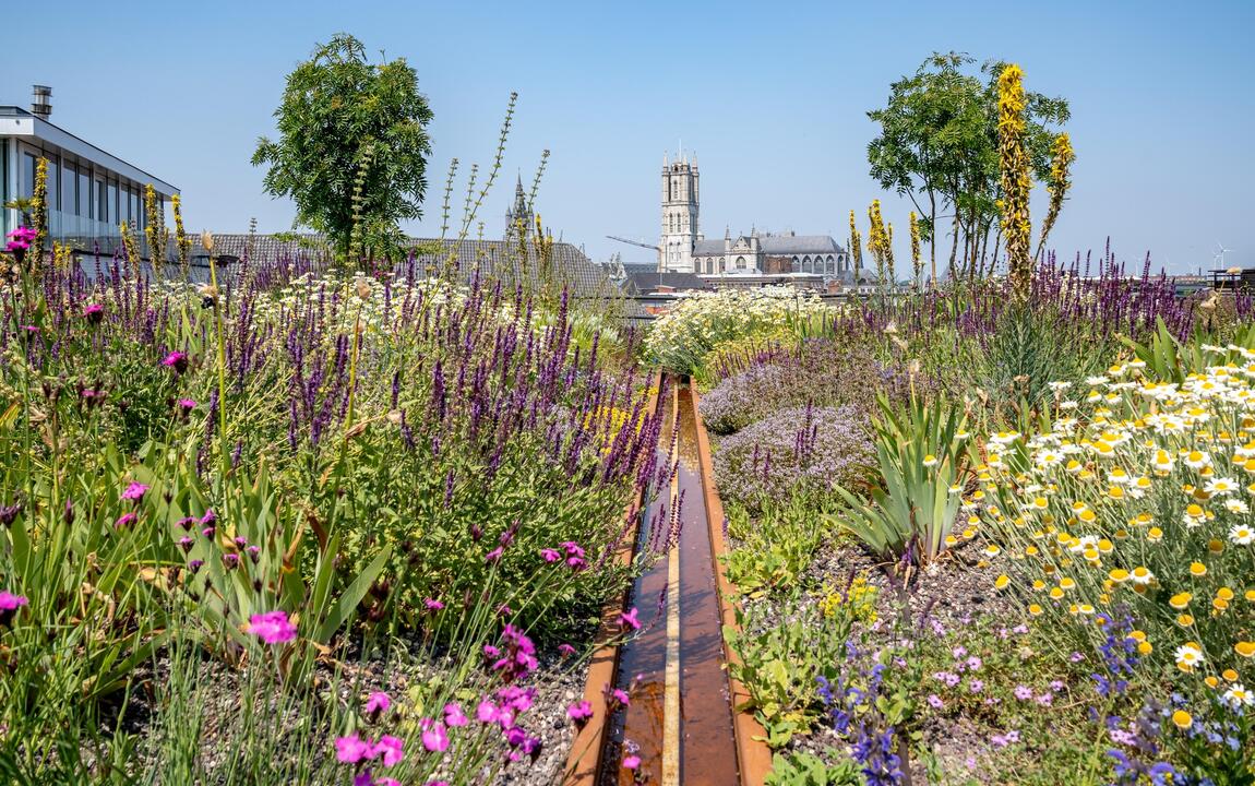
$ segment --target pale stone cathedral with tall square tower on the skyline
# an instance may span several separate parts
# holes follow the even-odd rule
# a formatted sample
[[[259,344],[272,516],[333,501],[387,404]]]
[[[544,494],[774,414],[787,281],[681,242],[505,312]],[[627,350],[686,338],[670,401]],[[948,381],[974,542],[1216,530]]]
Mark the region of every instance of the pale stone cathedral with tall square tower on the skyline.
[[[759,234],[707,240],[698,222],[697,156],[663,158],[663,234],[659,270],[699,276],[796,276],[850,281],[850,255],[827,235]]]

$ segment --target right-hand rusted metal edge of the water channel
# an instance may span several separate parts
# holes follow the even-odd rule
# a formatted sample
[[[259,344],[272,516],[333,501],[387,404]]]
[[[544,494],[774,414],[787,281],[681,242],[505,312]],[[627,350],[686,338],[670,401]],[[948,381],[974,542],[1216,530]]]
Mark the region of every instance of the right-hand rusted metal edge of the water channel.
[[[702,419],[702,411],[698,408],[698,389],[690,382],[689,394],[693,399],[693,419],[697,424],[698,437],[698,463],[702,470],[702,488],[705,497],[707,522],[710,526],[710,555],[714,560],[715,581],[719,594],[719,618],[725,628],[740,632],[737,625],[735,603],[740,598],[737,588],[728,580],[728,571],[719,557],[728,552],[728,540],[723,534],[723,502],[719,492],[714,487],[714,466],[710,462],[710,437],[707,434],[705,422]],[[740,664],[740,658],[723,640],[723,653],[730,665]],[[749,692],[745,686],[734,679],[732,670],[728,670],[728,693],[732,697],[732,727],[737,738],[737,770],[740,773],[740,786],[762,786],[767,773],[772,770],[772,752],[764,741],[766,729],[754,718],[752,712],[738,711],[737,707],[749,701]]]

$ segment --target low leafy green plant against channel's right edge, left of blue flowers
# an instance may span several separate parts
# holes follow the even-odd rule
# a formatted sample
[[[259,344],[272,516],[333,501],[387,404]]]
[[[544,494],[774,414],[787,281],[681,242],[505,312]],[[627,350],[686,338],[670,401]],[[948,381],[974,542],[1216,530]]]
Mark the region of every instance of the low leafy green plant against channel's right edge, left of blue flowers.
[[[833,653],[842,652],[852,625],[845,614],[823,616],[793,603],[783,604],[779,619],[764,627],[766,611],[738,610],[742,632],[723,632],[742,659],[729,664],[729,670],[749,691],[749,701],[738,709],[754,712],[773,748],[808,732],[825,717],[818,678],[836,681]]]

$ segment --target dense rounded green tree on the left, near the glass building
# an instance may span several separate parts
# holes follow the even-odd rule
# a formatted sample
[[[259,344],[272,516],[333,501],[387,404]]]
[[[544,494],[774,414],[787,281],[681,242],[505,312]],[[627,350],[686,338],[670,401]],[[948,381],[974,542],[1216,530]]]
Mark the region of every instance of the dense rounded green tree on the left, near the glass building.
[[[259,139],[252,154],[254,166],[270,164],[266,192],[291,197],[296,221],[326,235],[340,256],[355,212],[364,245],[393,252],[398,222],[422,217],[432,151],[432,110],[405,59],[371,64],[358,39],[338,34],[289,74],[275,118],[279,141]]]

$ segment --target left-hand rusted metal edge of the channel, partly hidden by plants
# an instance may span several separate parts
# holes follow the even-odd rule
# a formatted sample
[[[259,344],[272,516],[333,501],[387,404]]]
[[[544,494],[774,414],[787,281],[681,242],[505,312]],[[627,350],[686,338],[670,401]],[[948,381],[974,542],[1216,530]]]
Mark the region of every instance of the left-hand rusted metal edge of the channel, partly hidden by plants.
[[[648,413],[658,413],[659,392],[663,385],[663,373],[654,372],[653,388],[649,399]],[[640,517],[645,511],[645,488],[641,488],[636,497],[628,503],[624,516],[634,516],[631,527],[614,559],[622,566],[631,565],[636,552],[636,540],[640,535]],[[631,585],[621,596],[606,604],[601,610],[601,628],[597,638],[602,642],[611,642],[620,633],[619,613],[626,610],[630,600]],[[619,670],[619,644],[606,643],[597,647],[589,660],[589,677],[584,683],[584,699],[592,707],[592,717],[587,719],[582,728],[575,733],[571,741],[571,751],[566,757],[566,767],[562,771],[562,782],[566,786],[595,786],[601,772],[601,755],[606,747],[606,735],[610,732],[610,714],[606,712],[606,686],[614,687],[615,672]]]

